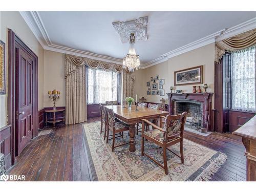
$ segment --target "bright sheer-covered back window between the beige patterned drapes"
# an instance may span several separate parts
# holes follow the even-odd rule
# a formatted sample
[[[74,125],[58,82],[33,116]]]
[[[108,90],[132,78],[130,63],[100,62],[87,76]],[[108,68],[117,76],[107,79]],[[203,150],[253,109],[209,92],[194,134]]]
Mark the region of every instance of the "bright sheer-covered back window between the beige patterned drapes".
[[[87,68],[87,103],[120,100],[120,74],[114,71]]]

